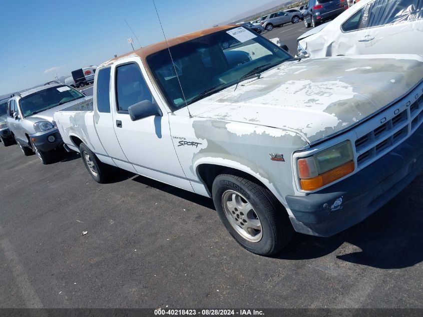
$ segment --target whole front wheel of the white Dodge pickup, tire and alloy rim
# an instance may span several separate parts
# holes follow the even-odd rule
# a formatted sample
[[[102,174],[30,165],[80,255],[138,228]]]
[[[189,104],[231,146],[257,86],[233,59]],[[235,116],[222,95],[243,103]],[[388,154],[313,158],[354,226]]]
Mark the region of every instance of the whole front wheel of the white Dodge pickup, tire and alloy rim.
[[[248,251],[271,255],[289,243],[293,229],[288,215],[263,186],[221,174],[213,182],[212,194],[226,229]]]

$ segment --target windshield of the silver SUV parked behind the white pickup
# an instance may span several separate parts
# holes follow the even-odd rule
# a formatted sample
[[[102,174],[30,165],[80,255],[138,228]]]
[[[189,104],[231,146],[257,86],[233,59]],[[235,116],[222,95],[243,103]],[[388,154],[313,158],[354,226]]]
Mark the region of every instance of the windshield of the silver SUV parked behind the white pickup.
[[[83,97],[79,91],[68,86],[55,86],[21,98],[19,105],[25,118]]]

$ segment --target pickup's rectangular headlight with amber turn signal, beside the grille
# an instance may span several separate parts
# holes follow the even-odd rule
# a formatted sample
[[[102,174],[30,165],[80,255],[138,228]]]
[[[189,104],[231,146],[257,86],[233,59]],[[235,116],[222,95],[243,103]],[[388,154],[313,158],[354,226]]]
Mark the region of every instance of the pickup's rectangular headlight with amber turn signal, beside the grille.
[[[315,190],[354,171],[351,142],[344,141],[312,156],[297,160],[302,190]]]

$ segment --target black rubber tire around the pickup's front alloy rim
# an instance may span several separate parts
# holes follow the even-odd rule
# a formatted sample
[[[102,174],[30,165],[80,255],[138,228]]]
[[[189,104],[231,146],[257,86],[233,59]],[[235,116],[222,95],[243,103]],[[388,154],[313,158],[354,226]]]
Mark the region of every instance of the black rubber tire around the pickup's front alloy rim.
[[[231,212],[234,213],[234,211],[225,211],[223,200],[225,200],[228,193],[232,195],[232,192],[241,194],[241,201],[244,201],[242,200],[244,197],[246,202],[251,204],[252,209],[250,212],[257,217],[254,221],[258,220],[260,223],[260,240],[248,240],[237,231],[243,227],[241,225],[236,225],[238,222],[228,219],[231,215],[227,216],[226,214],[230,214]],[[280,203],[263,186],[239,176],[221,174],[218,175],[213,182],[212,194],[215,208],[226,229],[232,237],[248,251],[259,255],[272,255],[280,251],[291,240],[293,228],[289,221],[288,214],[282,210]],[[234,208],[234,210],[238,213],[237,208]],[[242,214],[242,212],[239,213]],[[236,216],[234,214],[233,219],[236,220],[238,216],[238,214],[236,214]],[[241,217],[246,218],[244,214],[242,214]],[[247,223],[244,218],[242,218],[242,221]],[[235,223],[235,225],[231,224],[231,222]],[[239,221],[239,223],[241,223],[241,221]],[[237,226],[239,228],[237,228]],[[242,229],[240,231],[242,232]]]

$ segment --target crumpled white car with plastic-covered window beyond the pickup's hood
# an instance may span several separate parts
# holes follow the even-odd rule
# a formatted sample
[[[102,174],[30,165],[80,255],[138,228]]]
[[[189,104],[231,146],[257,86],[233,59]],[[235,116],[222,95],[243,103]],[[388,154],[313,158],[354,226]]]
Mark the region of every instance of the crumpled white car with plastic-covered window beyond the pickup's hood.
[[[423,54],[422,0],[361,0],[297,39],[299,56]]]

